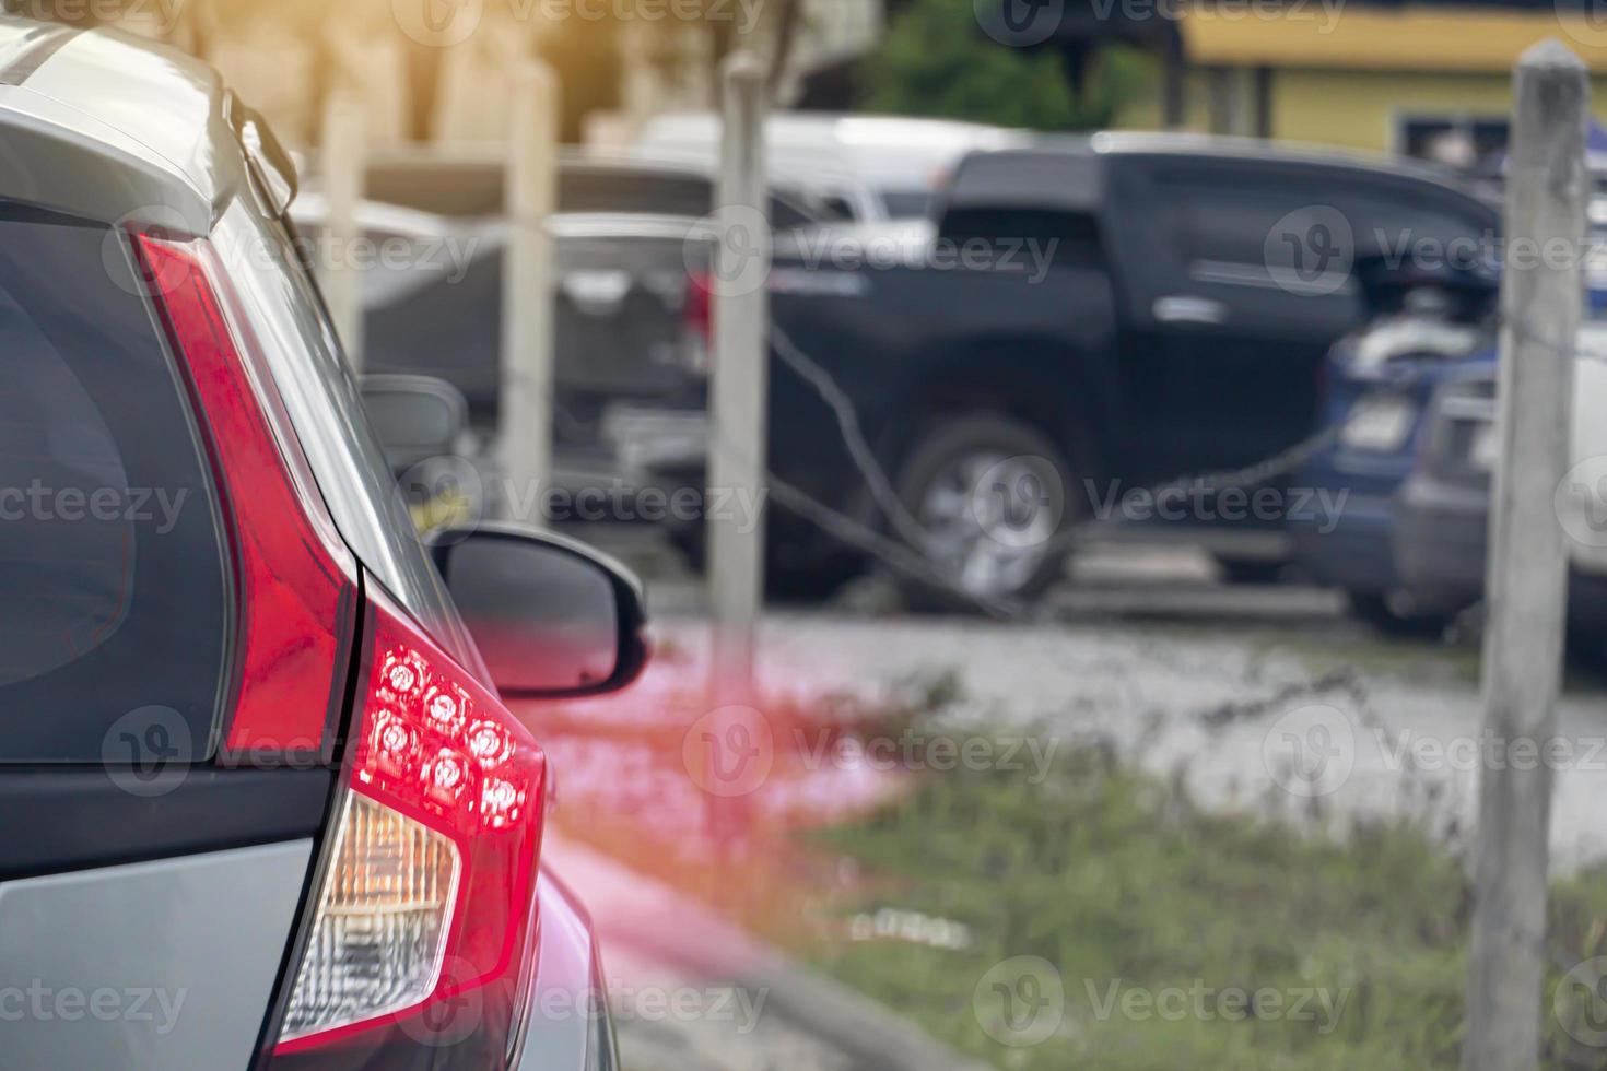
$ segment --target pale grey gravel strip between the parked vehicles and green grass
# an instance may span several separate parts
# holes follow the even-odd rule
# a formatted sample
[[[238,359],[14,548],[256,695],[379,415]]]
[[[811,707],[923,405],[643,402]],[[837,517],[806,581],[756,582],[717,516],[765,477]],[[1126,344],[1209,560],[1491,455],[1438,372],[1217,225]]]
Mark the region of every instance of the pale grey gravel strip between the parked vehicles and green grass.
[[[672,626],[673,628],[673,626]],[[673,629],[696,644],[696,628]],[[956,620],[770,617],[767,674],[821,687],[892,689],[953,674],[956,723],[1104,737],[1144,766],[1181,776],[1213,806],[1334,816],[1424,816],[1448,837],[1472,827],[1482,707],[1466,658],[1315,645],[1257,633],[1107,625],[1000,626]],[[1607,707],[1570,694],[1560,737],[1552,865],[1607,856]],[[1303,743],[1306,758],[1294,748]],[[1321,751],[1302,779],[1292,763]],[[1514,751],[1514,761],[1522,761]]]

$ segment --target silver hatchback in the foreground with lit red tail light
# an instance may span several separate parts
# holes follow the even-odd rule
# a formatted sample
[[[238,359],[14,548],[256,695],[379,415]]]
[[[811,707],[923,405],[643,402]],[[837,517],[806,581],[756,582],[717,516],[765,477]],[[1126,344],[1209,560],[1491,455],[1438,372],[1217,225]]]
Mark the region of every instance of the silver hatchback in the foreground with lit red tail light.
[[[419,544],[209,67],[0,16],[0,991],[93,997],[0,1063],[617,1066],[540,1010],[603,975],[505,697],[627,682],[636,584]]]

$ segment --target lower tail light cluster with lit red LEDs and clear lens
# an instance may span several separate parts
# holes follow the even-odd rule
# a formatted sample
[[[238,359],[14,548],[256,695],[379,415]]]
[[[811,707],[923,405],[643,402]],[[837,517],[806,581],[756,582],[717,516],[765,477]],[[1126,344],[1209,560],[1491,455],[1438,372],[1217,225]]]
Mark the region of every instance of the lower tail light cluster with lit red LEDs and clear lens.
[[[347,800],[275,1055],[347,1060],[391,1042],[506,1052],[545,758],[384,593],[370,625]]]

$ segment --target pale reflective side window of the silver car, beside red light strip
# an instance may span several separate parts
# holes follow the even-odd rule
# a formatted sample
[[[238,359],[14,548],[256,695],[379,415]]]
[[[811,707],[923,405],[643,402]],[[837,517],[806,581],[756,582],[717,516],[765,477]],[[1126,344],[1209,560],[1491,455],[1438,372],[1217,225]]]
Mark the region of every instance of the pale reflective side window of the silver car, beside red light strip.
[[[336,528],[379,583],[485,678],[479,652],[397,493],[363,414],[357,381],[289,231],[236,201],[219,220],[214,241]]]

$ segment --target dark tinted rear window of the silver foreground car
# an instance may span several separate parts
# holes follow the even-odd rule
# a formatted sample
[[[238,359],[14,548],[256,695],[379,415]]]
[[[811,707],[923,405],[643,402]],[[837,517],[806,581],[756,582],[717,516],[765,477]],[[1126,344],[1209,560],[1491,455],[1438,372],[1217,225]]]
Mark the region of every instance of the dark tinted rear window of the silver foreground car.
[[[214,493],[121,239],[0,202],[0,763],[209,755],[227,621]]]

